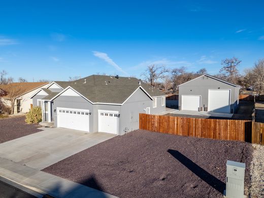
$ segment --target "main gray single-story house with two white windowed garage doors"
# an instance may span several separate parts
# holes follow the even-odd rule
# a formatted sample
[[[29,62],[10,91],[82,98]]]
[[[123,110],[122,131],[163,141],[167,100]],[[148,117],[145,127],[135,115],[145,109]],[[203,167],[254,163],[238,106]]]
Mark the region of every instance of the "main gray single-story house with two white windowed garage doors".
[[[34,95],[43,121],[56,127],[123,135],[139,128],[139,113],[166,111],[166,95],[136,78],[92,75],[52,82]]]

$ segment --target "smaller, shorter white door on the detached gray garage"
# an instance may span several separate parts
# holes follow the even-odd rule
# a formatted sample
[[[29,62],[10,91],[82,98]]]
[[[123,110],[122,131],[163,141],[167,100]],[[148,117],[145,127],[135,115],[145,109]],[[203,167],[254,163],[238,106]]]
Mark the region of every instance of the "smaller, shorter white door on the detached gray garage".
[[[198,111],[201,104],[200,95],[182,95],[181,110]]]

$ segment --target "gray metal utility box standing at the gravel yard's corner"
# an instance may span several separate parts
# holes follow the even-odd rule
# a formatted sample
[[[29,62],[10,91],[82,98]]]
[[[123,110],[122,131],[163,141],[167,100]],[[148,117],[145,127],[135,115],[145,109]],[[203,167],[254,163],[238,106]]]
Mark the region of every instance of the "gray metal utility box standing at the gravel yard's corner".
[[[225,197],[228,198],[244,197],[245,168],[246,168],[245,163],[227,160]]]

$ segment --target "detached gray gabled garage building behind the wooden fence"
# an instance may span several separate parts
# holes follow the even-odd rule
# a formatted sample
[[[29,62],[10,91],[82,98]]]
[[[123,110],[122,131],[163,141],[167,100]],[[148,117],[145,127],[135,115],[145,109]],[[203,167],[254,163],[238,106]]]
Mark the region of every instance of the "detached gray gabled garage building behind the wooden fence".
[[[235,113],[239,103],[239,85],[202,75],[179,87],[179,110]]]

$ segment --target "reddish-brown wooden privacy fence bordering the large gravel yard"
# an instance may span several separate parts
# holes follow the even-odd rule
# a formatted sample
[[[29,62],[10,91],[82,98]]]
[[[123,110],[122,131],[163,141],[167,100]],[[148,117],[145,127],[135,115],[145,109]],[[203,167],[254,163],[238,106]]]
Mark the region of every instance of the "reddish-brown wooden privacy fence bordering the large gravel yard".
[[[139,127],[144,130],[180,136],[237,140],[252,143],[257,143],[255,139],[258,141],[257,138],[253,139],[255,136],[252,135],[253,127],[250,120],[201,119],[140,114]],[[259,144],[259,141],[257,144]]]

